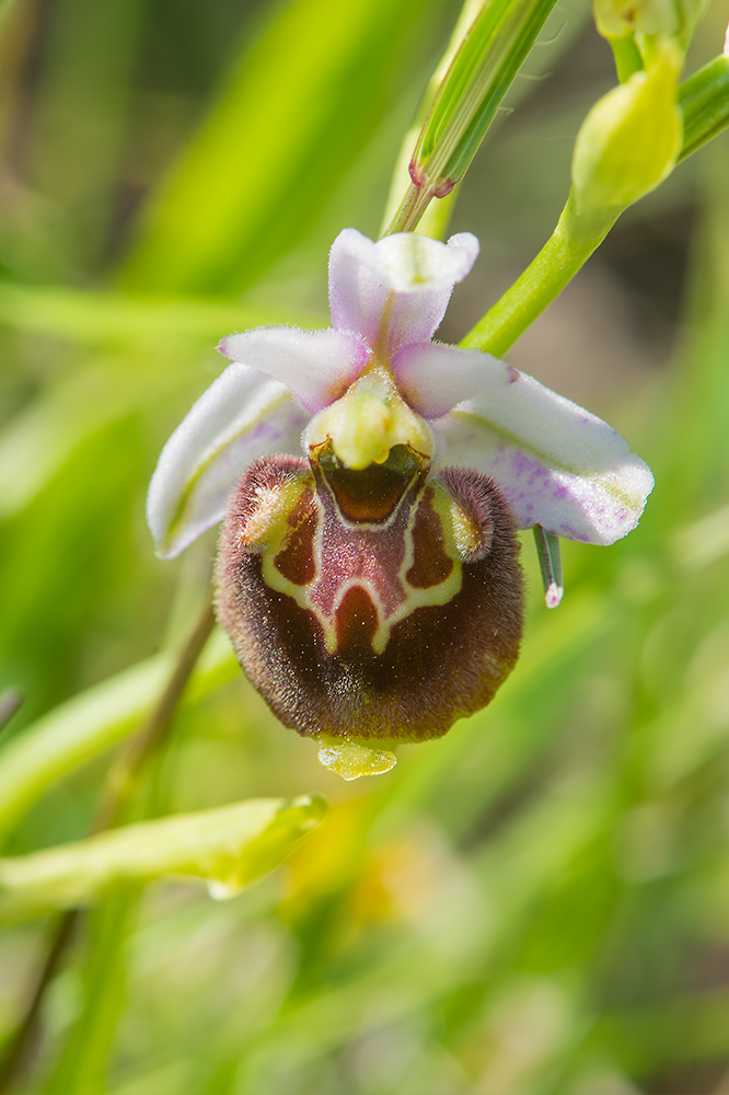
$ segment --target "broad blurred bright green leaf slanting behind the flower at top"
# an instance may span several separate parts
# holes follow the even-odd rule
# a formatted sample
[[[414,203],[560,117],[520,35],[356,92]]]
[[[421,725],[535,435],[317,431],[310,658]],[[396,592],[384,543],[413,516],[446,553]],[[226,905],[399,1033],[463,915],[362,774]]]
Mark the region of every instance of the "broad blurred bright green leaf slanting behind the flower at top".
[[[227,87],[149,210],[125,281],[208,292],[248,285],[323,209],[390,106],[421,0],[293,0],[236,57]]]

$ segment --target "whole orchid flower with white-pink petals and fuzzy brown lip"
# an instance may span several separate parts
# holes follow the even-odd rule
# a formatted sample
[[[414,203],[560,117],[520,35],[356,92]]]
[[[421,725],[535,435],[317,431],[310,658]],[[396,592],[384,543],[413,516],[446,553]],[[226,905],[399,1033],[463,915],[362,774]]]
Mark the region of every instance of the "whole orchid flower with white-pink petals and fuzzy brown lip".
[[[275,714],[346,777],[444,734],[511,671],[518,529],[610,544],[652,487],[606,423],[432,341],[477,254],[470,233],[374,243],[345,229],[332,326],[224,338],[233,364],[150,484],[163,558],[224,518],[220,623]]]

